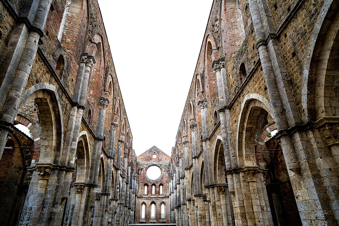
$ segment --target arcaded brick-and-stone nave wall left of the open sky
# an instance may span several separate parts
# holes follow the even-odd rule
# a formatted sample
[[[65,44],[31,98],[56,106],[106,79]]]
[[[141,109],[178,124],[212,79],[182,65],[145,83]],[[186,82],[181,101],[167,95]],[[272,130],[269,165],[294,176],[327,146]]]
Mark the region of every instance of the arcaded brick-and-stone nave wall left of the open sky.
[[[136,223],[132,140],[98,2],[1,0],[0,224]]]

